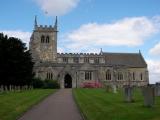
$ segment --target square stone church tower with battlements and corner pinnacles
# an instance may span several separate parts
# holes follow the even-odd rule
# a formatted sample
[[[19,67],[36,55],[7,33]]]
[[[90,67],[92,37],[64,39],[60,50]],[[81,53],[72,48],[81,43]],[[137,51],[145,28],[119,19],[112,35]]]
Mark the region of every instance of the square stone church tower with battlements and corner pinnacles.
[[[54,62],[57,58],[57,17],[52,26],[37,24],[35,16],[34,30],[30,38],[29,49],[35,62]]]

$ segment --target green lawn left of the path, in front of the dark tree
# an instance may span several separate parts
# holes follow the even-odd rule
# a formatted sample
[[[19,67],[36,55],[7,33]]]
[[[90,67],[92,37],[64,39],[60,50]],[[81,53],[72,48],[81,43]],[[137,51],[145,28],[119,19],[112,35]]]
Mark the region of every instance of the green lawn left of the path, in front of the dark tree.
[[[0,120],[16,120],[53,92],[55,92],[53,89],[37,89],[0,93]]]

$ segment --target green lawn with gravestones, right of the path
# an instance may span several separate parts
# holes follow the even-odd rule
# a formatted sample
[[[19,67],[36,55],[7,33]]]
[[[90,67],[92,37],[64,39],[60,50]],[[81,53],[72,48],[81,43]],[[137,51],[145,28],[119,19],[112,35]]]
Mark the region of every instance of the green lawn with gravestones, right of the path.
[[[87,120],[160,120],[160,97],[153,108],[143,106],[141,92],[134,92],[133,103],[124,102],[122,92],[104,89],[74,89],[76,102]]]

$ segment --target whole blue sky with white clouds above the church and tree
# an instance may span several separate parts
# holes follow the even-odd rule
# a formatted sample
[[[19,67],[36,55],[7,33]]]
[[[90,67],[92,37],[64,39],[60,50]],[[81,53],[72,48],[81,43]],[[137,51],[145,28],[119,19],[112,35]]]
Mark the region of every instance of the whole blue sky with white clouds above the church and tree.
[[[0,32],[28,43],[34,16],[53,25],[59,52],[138,52],[160,81],[160,0],[1,0]]]

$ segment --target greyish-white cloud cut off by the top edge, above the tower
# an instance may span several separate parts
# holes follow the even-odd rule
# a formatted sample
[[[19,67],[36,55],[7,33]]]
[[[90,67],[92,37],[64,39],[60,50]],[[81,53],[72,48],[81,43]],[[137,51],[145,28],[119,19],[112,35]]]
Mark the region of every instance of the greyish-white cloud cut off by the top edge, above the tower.
[[[59,16],[75,8],[79,0],[35,0],[49,16]]]

